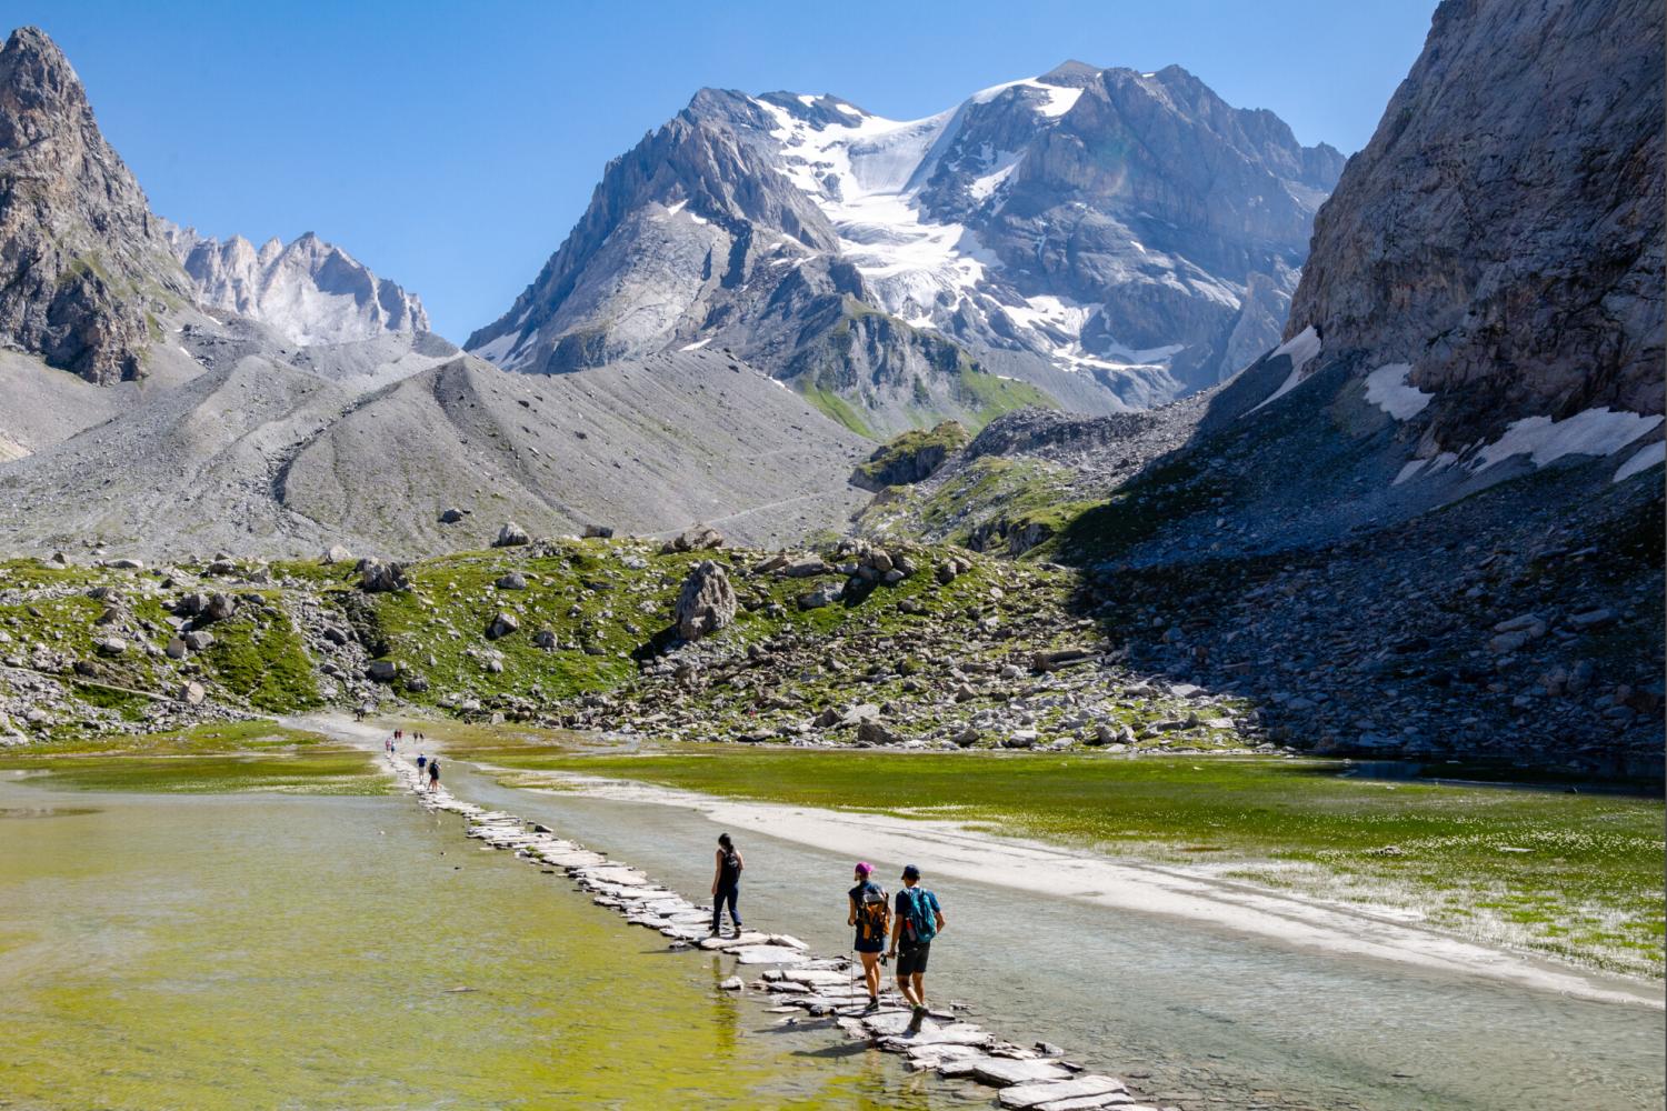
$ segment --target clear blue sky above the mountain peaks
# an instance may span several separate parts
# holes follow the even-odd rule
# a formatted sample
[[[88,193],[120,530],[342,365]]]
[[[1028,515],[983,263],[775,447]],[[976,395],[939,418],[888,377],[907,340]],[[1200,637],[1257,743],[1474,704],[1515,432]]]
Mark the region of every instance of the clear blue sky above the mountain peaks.
[[[0,0],[0,25],[63,47],[155,212],[257,242],[317,232],[463,341],[537,275],[603,163],[702,85],[919,118],[1065,58],[1179,63],[1352,153],[1434,7]]]

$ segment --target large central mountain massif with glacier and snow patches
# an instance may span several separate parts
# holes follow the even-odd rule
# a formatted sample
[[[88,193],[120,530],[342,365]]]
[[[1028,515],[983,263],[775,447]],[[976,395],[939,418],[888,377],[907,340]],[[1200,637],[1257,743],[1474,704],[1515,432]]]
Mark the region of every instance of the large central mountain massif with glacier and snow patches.
[[[718,345],[879,425],[970,363],[1150,405],[1279,341],[1342,162],[1179,67],[1065,63],[912,122],[702,90],[468,346],[563,371]]]

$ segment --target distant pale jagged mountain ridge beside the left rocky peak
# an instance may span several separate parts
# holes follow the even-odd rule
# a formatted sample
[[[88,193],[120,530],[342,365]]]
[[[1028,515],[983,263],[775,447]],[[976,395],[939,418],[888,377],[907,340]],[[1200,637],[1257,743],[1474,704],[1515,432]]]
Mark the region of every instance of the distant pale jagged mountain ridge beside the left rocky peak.
[[[415,293],[378,278],[312,232],[260,248],[242,235],[220,242],[170,228],[168,243],[197,283],[197,301],[250,316],[293,343],[348,343],[385,331],[428,331]]]

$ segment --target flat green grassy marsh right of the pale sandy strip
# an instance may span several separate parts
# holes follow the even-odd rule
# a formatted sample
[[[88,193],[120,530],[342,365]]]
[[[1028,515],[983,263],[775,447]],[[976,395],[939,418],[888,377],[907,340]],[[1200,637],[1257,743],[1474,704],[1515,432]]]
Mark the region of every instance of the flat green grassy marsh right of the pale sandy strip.
[[[1334,761],[700,750],[497,763],[733,798],[952,816],[1369,904],[1635,974],[1662,974],[1662,803],[1340,778]]]

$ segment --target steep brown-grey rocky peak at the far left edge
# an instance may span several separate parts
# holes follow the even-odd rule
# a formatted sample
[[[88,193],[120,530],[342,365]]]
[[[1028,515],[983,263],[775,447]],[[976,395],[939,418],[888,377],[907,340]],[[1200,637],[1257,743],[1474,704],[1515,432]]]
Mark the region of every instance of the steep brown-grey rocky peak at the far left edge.
[[[190,296],[80,78],[38,28],[0,50],[0,343],[95,383],[138,378],[155,315]]]

